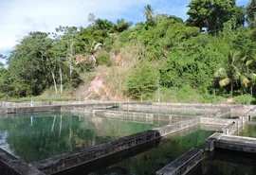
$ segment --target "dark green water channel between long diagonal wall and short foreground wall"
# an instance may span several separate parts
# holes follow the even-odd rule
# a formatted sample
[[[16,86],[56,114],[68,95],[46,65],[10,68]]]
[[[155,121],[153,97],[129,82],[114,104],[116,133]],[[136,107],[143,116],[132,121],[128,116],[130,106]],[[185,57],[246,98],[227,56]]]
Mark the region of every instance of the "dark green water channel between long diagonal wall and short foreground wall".
[[[126,153],[110,156],[105,160],[70,169],[58,175],[155,175],[155,171],[170,164],[193,147],[203,149],[205,139],[213,132],[202,131],[198,125],[170,134],[137,149],[130,149]]]

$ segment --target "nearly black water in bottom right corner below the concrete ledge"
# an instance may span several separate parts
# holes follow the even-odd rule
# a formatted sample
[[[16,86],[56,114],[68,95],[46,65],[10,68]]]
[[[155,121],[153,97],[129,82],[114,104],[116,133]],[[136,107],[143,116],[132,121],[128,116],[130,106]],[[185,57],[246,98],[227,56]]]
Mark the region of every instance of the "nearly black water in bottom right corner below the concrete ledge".
[[[188,175],[255,175],[256,154],[216,149]]]

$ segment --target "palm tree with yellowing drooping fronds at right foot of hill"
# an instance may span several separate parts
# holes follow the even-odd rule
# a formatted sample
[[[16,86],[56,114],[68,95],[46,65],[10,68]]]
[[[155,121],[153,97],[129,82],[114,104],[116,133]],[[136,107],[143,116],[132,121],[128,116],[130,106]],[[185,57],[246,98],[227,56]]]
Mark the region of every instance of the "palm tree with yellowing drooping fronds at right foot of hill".
[[[221,87],[230,85],[231,94],[233,87],[241,85],[241,94],[244,89],[250,85],[250,79],[254,79],[256,75],[249,69],[252,61],[247,61],[247,57],[240,58],[239,52],[229,52],[226,62],[221,68],[214,73],[214,78],[219,80]]]

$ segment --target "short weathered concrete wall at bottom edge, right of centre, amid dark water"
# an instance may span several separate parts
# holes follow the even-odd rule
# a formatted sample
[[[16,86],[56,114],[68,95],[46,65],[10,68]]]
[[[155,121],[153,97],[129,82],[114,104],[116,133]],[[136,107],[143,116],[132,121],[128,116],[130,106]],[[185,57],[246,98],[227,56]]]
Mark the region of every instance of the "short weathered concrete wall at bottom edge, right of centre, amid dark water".
[[[171,164],[156,171],[155,174],[185,175],[201,161],[202,153],[203,149],[190,149],[188,152],[175,159]]]

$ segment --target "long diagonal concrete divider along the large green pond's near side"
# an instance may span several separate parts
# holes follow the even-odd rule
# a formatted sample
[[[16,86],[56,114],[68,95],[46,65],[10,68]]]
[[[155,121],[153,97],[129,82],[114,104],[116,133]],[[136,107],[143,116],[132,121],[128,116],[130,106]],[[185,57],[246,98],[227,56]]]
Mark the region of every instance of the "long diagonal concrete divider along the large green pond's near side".
[[[138,145],[155,140],[175,131],[181,131],[199,124],[199,119],[192,119],[167,125],[151,131],[142,131],[137,134],[122,137],[95,147],[82,149],[76,152],[67,153],[45,161],[34,164],[46,174],[56,173],[64,169],[79,166],[102,157],[117,153],[119,151],[134,148]]]

